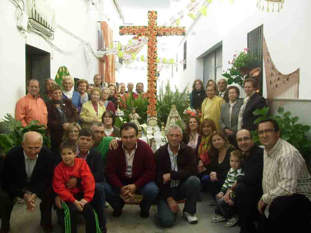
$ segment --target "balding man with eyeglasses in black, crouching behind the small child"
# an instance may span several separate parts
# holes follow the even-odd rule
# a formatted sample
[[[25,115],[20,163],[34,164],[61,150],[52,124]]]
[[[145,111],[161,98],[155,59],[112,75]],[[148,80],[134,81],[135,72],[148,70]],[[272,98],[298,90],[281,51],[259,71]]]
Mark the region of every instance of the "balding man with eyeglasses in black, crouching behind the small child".
[[[244,176],[234,183],[241,232],[255,232],[254,218],[260,219],[257,211],[262,196],[263,149],[254,144],[251,132],[246,129],[236,134],[238,146],[243,151]]]

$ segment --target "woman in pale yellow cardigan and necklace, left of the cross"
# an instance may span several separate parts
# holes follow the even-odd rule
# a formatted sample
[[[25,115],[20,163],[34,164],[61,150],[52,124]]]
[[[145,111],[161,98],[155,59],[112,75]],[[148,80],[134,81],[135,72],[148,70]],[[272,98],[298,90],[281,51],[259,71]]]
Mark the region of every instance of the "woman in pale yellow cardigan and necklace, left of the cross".
[[[100,106],[100,88],[91,90],[91,100],[82,105],[79,119],[82,129],[90,129],[94,122],[101,122],[101,116],[106,111],[104,105]]]

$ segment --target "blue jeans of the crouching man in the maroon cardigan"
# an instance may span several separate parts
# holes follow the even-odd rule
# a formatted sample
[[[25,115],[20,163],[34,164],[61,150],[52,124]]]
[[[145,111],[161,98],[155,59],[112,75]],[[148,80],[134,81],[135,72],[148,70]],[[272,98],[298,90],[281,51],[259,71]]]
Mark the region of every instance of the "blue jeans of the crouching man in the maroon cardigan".
[[[123,185],[128,185],[128,184],[123,184]],[[120,189],[114,188],[107,182],[104,182],[104,187],[105,187],[106,199],[107,199],[107,202],[110,204],[110,206],[113,209],[123,208],[122,200],[119,195]],[[148,212],[150,210],[150,207],[153,201],[156,199],[156,197],[159,194],[159,189],[154,181],[150,181],[145,186],[136,190],[136,194],[143,195],[142,202],[140,203],[140,208],[142,209],[142,211]]]

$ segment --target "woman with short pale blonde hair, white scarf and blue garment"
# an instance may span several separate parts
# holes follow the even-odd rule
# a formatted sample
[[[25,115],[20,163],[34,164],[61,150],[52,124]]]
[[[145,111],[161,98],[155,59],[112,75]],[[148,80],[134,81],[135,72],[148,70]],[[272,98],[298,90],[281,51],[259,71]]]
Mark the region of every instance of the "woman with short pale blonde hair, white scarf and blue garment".
[[[73,90],[73,85],[74,85],[74,81],[72,76],[64,76],[63,77],[63,98],[67,98],[67,99],[71,99],[72,104],[74,106],[76,106],[76,108],[78,109],[78,113],[81,110],[81,95],[77,92]]]

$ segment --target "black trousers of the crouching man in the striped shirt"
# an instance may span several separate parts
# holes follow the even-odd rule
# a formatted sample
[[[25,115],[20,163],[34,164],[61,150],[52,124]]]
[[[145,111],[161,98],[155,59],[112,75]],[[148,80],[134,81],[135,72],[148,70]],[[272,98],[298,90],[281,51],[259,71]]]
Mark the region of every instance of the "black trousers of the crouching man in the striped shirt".
[[[269,217],[262,215],[259,232],[295,232],[310,230],[311,201],[302,194],[274,199],[269,208]],[[308,230],[309,229],[309,230]]]

